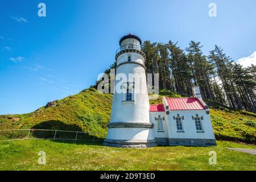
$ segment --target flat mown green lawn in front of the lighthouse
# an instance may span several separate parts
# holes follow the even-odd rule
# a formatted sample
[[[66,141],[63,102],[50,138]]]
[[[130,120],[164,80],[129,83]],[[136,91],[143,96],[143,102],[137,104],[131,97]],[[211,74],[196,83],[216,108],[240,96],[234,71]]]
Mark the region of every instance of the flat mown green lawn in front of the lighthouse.
[[[0,142],[0,170],[256,170],[256,156],[233,148],[256,146],[218,141],[213,147],[112,148],[101,142],[20,140]],[[46,165],[38,152],[46,152]],[[209,152],[217,164],[210,165]]]

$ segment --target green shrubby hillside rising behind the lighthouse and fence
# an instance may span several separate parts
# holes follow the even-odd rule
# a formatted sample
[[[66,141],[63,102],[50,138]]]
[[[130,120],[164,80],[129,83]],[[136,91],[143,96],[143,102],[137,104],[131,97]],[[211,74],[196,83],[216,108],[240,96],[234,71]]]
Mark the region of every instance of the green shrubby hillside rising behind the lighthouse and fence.
[[[150,103],[162,103],[162,96],[180,97],[162,90],[158,99],[150,100]],[[256,114],[209,104],[217,139],[256,143]],[[102,94],[89,88],[29,114],[0,115],[0,130],[34,128],[106,134],[111,105],[112,94]]]

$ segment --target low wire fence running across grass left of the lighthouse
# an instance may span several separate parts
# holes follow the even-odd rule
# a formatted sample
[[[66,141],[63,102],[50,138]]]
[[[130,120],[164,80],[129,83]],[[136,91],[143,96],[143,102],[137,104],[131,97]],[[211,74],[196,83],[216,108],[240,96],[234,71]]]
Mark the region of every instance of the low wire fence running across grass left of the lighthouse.
[[[39,140],[39,139],[102,141],[105,138],[106,138],[106,134],[86,133],[82,131],[42,130],[42,129],[0,130],[0,141]]]

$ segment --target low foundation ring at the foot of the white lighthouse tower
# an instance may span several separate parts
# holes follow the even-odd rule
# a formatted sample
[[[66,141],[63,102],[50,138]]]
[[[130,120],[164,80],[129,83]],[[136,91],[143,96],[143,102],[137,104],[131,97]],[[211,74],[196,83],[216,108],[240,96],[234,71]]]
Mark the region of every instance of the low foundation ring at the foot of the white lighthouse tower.
[[[105,139],[105,146],[119,148],[147,148],[158,146],[156,140],[110,140]]]

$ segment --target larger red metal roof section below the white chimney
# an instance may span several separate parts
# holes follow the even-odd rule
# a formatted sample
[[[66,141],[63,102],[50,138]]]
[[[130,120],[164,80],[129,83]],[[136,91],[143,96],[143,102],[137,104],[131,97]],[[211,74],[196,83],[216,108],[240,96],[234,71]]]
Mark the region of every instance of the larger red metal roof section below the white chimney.
[[[198,98],[167,98],[169,110],[205,110]]]

